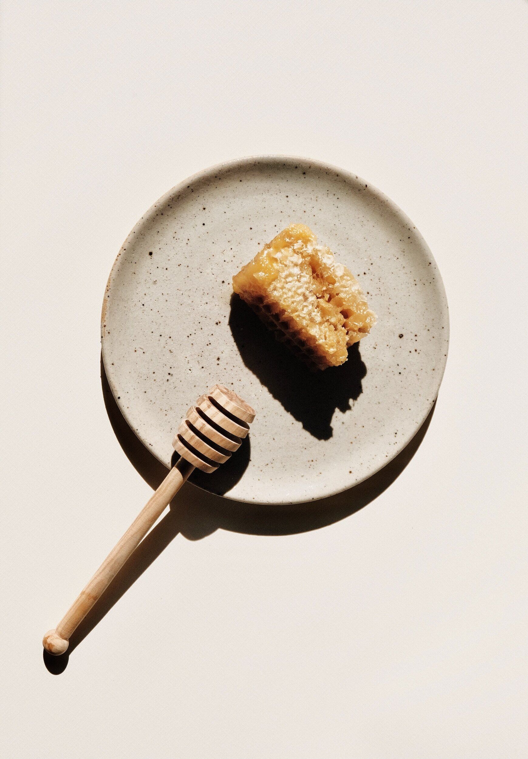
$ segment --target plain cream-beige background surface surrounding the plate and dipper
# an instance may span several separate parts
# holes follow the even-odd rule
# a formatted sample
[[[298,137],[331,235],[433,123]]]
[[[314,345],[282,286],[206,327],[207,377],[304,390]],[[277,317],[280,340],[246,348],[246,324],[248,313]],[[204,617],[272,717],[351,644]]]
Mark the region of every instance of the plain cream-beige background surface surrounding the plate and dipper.
[[[526,755],[528,4],[2,6],[0,754]],[[429,430],[315,531],[228,528],[357,496],[244,523],[187,490],[53,676],[42,634],[151,492],[102,398],[108,271],[169,187],[255,153],[357,172],[423,233],[451,310]]]

